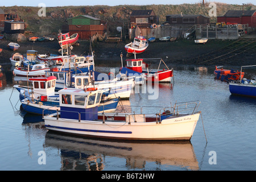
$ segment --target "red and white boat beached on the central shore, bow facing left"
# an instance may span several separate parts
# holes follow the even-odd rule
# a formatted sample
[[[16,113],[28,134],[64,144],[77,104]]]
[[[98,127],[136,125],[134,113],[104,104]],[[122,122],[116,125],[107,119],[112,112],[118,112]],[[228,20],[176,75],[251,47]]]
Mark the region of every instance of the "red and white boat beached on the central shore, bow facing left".
[[[134,41],[125,45],[125,51],[127,53],[142,53],[148,47],[147,39],[143,36],[137,36]]]

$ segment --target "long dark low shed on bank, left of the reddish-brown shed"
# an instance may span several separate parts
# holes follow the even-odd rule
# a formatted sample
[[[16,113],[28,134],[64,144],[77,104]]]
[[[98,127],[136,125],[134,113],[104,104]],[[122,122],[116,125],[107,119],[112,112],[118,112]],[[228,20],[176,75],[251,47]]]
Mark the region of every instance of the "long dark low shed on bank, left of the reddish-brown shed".
[[[166,15],[166,22],[169,24],[209,24],[210,18],[204,15]]]

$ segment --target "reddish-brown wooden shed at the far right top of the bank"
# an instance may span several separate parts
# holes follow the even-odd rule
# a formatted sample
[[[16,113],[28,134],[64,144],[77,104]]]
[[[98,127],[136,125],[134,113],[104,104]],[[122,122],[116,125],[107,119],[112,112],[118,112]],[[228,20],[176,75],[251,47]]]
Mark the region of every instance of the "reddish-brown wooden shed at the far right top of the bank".
[[[256,10],[229,10],[224,16],[217,16],[217,22],[248,24],[256,27]]]

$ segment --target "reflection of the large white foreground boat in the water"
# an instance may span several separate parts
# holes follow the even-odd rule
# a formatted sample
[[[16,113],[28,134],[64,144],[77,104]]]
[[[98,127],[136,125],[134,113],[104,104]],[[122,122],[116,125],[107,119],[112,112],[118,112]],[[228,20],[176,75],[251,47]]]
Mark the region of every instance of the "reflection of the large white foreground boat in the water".
[[[55,147],[60,150],[61,170],[113,170],[115,167],[112,168],[111,164],[105,162],[108,157],[125,159],[125,164],[120,163],[123,160],[118,160],[118,165],[125,166],[126,169],[145,170],[146,163],[155,163],[158,167],[153,170],[162,170],[160,166],[163,165],[199,170],[199,163],[190,142],[116,142],[48,131],[44,147]],[[150,166],[152,170],[152,165]]]

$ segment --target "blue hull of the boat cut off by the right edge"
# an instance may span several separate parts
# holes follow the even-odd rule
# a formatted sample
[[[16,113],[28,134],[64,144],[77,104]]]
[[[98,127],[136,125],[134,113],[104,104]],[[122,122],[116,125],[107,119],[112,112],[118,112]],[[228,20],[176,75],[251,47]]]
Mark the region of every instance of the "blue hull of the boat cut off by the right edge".
[[[234,95],[256,97],[256,85],[253,84],[229,83],[229,91]]]

